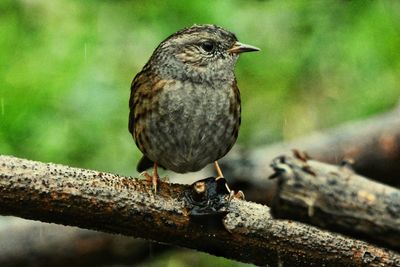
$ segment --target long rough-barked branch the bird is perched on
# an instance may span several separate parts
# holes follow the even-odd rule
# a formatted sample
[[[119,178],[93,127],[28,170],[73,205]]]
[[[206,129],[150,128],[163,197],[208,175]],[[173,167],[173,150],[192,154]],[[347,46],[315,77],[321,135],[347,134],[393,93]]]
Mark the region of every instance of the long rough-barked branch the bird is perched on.
[[[192,187],[0,156],[0,214],[194,248],[257,265],[398,266],[400,255],[363,241],[271,218],[268,207],[232,200],[223,227],[188,216]]]

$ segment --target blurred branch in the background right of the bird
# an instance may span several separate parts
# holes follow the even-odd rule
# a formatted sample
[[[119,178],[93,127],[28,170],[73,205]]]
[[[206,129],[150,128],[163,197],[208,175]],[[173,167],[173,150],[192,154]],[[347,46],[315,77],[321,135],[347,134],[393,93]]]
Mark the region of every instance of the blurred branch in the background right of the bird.
[[[305,151],[312,158],[331,164],[351,158],[357,173],[400,187],[400,108],[293,141],[251,150],[236,146],[220,165],[228,182],[238,184],[246,197],[270,203],[276,184],[268,180],[273,174],[269,164],[277,155],[290,153],[292,149]]]

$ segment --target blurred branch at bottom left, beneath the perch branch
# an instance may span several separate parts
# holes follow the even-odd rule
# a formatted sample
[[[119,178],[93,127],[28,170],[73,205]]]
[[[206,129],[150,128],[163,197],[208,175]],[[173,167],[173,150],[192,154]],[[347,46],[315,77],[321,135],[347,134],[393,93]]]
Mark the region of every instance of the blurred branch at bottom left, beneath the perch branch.
[[[0,223],[0,266],[131,265],[167,248],[132,237],[76,227],[19,218],[4,221]]]

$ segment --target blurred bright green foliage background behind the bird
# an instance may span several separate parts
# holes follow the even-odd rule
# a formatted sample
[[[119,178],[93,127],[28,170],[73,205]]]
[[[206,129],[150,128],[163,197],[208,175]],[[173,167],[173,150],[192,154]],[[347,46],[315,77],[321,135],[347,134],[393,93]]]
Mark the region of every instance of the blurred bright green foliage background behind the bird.
[[[160,41],[194,23],[262,49],[236,68],[241,146],[368,117],[400,98],[400,1],[2,0],[0,154],[136,176],[130,82]],[[196,256],[197,266],[217,260]]]

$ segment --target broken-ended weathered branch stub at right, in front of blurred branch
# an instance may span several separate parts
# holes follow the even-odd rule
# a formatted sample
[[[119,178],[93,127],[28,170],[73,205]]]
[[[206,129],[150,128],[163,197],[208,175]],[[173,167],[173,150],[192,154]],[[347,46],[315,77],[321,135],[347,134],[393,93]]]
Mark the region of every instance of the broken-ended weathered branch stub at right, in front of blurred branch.
[[[400,190],[306,158],[282,156],[272,167],[278,190],[272,214],[400,251]]]

